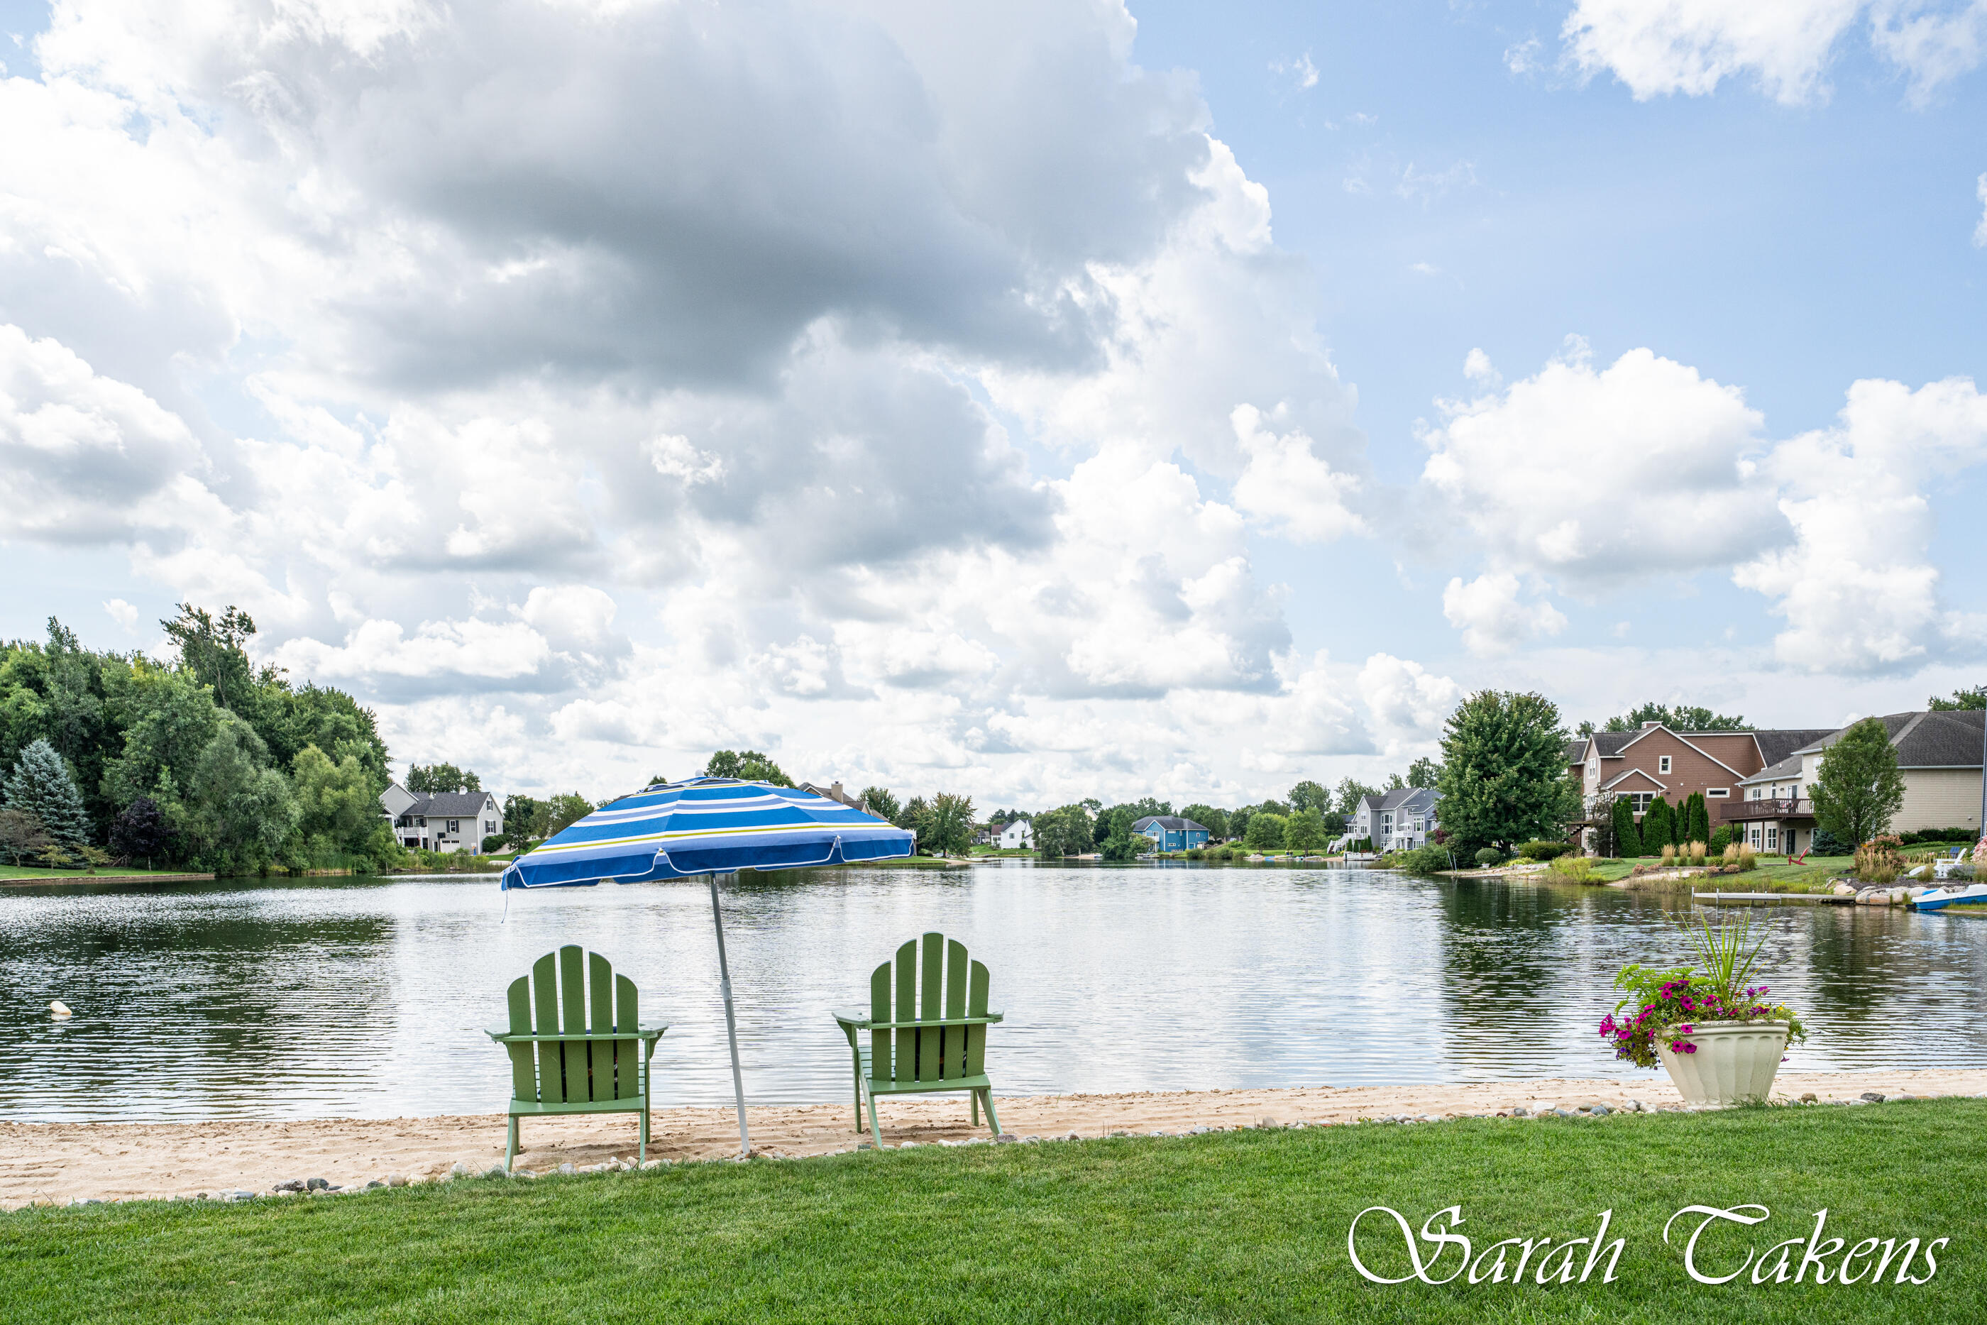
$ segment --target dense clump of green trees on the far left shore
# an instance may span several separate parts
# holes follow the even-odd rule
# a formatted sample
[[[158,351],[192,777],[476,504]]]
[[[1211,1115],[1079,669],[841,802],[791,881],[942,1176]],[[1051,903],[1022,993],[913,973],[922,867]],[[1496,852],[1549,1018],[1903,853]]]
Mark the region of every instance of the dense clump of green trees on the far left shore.
[[[397,856],[372,709],[256,667],[238,608],[161,626],[177,662],[85,650],[56,618],[0,646],[0,850],[217,874]]]

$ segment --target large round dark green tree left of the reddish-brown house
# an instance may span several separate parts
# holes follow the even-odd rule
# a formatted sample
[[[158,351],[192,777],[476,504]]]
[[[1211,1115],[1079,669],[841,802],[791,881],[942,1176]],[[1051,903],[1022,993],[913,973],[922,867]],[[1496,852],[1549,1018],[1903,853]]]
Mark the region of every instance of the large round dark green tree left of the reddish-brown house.
[[[1443,828],[1462,846],[1510,850],[1564,836],[1580,816],[1560,709],[1536,693],[1476,691],[1443,727]]]

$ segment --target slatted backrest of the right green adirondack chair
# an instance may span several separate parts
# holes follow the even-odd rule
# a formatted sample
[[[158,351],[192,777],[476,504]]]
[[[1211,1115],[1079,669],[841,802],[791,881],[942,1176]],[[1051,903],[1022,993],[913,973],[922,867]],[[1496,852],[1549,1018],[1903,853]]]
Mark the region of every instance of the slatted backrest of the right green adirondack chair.
[[[870,973],[870,1021],[986,1017],[990,983],[988,967],[966,956],[966,944],[926,934]],[[870,1075],[876,1081],[978,1077],[986,1071],[986,1051],[984,1025],[870,1031]]]

